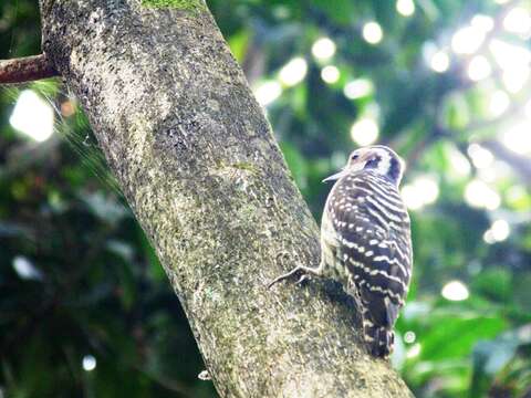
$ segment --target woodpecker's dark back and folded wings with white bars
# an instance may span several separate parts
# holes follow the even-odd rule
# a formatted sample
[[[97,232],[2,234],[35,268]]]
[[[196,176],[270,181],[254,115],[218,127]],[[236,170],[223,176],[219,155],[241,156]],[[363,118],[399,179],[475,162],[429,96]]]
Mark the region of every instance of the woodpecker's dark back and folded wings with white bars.
[[[409,217],[402,199],[395,187],[372,176],[346,177],[331,195],[337,261],[352,275],[372,321],[392,327],[412,273]]]

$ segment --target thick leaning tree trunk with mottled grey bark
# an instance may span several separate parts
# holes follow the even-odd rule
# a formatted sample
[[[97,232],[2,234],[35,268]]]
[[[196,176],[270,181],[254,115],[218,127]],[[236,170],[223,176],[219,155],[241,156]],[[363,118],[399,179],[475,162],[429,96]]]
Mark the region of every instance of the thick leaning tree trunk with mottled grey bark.
[[[409,397],[364,353],[317,228],[198,0],[41,0],[44,51],[77,95],[222,397]],[[200,3],[199,3],[200,6]],[[356,327],[355,327],[356,326]]]

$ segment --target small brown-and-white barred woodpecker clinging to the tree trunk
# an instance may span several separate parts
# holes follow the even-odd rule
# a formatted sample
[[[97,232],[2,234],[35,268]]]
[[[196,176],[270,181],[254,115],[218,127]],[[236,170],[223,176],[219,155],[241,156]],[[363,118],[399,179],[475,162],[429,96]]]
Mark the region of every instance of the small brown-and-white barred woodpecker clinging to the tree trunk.
[[[356,301],[371,355],[393,352],[398,312],[412,277],[409,216],[398,186],[404,161],[391,148],[354,150],[346,166],[324,181],[335,180],[321,221],[319,268],[299,265],[269,286],[293,276],[331,277]],[[299,283],[298,282],[298,283]]]

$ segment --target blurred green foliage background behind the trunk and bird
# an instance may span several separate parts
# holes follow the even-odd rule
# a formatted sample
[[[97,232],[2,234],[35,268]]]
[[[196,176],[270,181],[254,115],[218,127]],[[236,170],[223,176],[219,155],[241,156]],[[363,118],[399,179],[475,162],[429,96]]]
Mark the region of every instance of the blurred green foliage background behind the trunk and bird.
[[[407,159],[415,276],[393,363],[415,395],[531,396],[531,154],[500,145],[525,115],[530,83],[511,88],[486,44],[468,55],[450,48],[481,14],[492,22],[483,42],[527,49],[529,35],[502,22],[530,4],[418,0],[405,17],[391,0],[208,3],[257,96],[269,95],[317,219],[322,178],[371,133],[351,136],[354,122],[374,121],[378,142]],[[367,21],[382,27],[377,44],[363,38]],[[323,36],[336,46],[326,60],[312,55]],[[0,59],[35,54],[39,40],[37,1],[2,1]],[[494,65],[488,76],[471,71],[477,53]],[[305,65],[296,83],[282,77],[293,59]],[[326,83],[331,65],[339,76]],[[350,98],[360,78],[372,90]],[[54,107],[44,143],[10,124],[27,88]],[[204,365],[178,300],[60,81],[0,90],[0,397],[216,396],[197,378]]]

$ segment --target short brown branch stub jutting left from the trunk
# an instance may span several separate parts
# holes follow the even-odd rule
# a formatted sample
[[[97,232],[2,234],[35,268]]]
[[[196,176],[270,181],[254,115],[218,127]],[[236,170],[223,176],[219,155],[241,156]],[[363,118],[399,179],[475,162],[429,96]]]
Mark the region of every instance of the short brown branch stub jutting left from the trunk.
[[[0,84],[59,76],[44,54],[0,61]]]

